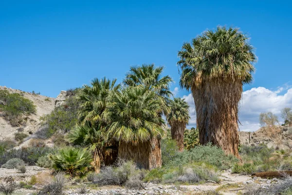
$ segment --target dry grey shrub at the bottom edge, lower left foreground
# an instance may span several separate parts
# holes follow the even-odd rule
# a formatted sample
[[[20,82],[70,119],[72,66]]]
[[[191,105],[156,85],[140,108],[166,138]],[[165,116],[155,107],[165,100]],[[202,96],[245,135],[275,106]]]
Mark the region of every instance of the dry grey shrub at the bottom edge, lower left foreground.
[[[44,186],[37,195],[62,195],[66,179],[63,174],[57,174],[53,181]]]

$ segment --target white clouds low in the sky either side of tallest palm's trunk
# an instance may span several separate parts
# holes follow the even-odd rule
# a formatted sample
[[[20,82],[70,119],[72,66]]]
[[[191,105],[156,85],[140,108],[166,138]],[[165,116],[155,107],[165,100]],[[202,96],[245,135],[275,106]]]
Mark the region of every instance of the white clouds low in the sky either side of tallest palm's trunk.
[[[282,94],[283,95],[280,95]],[[183,96],[190,105],[189,127],[196,126],[196,112],[194,99],[191,94]],[[242,93],[239,105],[239,125],[240,131],[256,131],[259,125],[259,114],[272,112],[280,118],[281,109],[292,107],[292,88],[291,86],[278,87],[272,91],[264,87],[252,88]]]

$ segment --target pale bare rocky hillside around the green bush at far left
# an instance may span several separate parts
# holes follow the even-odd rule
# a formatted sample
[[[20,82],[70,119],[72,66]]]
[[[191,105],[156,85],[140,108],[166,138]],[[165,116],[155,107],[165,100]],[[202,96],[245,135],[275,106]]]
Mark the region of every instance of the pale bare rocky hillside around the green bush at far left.
[[[9,121],[5,120],[3,113],[0,112],[0,140],[14,138],[14,134],[21,131],[32,134],[40,127],[40,117],[52,112],[55,107],[55,98],[49,98],[29,92],[23,92],[16,89],[0,86],[0,90],[8,90],[9,93],[21,94],[24,98],[28,98],[36,105],[36,114],[24,116],[24,123],[19,126],[12,126]]]

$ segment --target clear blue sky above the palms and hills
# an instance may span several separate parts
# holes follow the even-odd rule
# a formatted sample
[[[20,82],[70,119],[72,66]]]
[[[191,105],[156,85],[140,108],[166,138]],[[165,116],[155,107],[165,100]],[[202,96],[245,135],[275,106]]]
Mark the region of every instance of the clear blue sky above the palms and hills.
[[[217,25],[251,37],[254,82],[284,96],[292,73],[289,1],[1,1],[0,85],[56,97],[92,78],[118,78],[155,63],[179,87],[177,51]],[[290,84],[289,84],[290,83]],[[189,93],[178,90],[177,96]],[[290,103],[290,102],[289,102]]]

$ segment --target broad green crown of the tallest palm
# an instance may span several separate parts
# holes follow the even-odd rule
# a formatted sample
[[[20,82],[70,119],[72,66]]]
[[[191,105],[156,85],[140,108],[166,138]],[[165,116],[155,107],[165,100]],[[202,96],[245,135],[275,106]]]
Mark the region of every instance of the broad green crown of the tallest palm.
[[[178,52],[178,65],[182,69],[180,84],[189,90],[193,84],[215,78],[250,83],[256,62],[253,50],[248,36],[238,28],[207,30],[191,43],[184,43]]]

